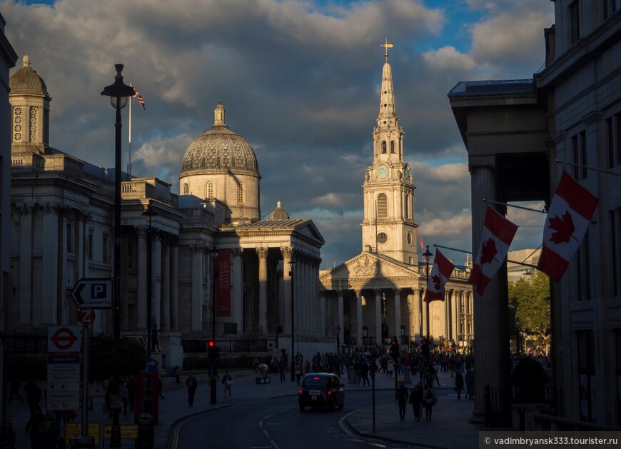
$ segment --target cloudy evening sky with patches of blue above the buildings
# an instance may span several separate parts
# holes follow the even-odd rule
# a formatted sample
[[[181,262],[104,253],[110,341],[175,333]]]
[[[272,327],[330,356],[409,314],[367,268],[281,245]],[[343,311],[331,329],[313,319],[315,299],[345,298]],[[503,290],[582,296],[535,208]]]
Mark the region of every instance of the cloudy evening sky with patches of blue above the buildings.
[[[132,174],[179,193],[183,154],[222,101],[226,124],[256,153],[262,218],[281,201],[291,218],[313,220],[321,268],[362,251],[380,44],[394,45],[420,236],[432,252],[471,251],[468,157],[447,94],[459,81],[531,79],[553,9],[548,0],[0,0],[19,55],[11,74],[28,54],[52,97],[52,147],[114,166],[114,112],[100,93],[124,64],[147,108],[133,106]],[[123,166],[128,158],[124,109]],[[543,214],[508,208],[508,218],[519,226],[511,251],[540,246]]]

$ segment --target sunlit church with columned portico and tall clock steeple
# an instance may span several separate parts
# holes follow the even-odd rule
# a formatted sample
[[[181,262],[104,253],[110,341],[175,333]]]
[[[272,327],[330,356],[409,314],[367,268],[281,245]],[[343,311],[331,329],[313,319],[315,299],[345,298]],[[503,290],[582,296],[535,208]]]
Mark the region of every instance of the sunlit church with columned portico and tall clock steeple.
[[[364,173],[362,253],[320,274],[329,325],[344,345],[385,345],[393,336],[410,345],[429,336],[468,349],[474,323],[467,268],[453,271],[444,301],[423,301],[433,264],[418,262],[415,186],[403,135],[386,51],[373,162]]]

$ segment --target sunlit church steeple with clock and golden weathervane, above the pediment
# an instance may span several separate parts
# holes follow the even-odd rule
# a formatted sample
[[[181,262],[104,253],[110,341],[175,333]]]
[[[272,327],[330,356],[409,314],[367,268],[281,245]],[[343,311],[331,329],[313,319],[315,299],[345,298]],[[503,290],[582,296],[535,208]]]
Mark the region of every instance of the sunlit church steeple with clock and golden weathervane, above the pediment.
[[[414,185],[403,161],[403,128],[395,110],[393,73],[385,44],[380,113],[373,128],[373,165],[363,183],[363,251],[377,252],[400,262],[418,263],[414,224]]]

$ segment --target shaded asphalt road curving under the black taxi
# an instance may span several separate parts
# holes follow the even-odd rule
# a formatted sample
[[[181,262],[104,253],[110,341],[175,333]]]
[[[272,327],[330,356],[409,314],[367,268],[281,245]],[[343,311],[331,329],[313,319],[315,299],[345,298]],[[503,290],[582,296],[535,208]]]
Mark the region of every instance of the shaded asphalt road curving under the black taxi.
[[[375,401],[392,401],[392,391],[376,391]],[[371,392],[347,391],[343,410],[298,410],[295,396],[252,400],[181,420],[171,430],[168,449],[235,448],[410,448],[365,440],[348,431],[344,417],[371,404]],[[398,418],[395,418],[398,419]]]

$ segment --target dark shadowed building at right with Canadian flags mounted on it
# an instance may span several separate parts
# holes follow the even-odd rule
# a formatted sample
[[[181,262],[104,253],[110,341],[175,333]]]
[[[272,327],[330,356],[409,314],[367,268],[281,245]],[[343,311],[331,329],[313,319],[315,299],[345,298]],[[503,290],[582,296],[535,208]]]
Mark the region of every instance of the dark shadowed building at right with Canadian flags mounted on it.
[[[468,151],[473,247],[482,198],[549,204],[562,171],[599,198],[580,249],[550,288],[555,394],[550,409],[527,420],[542,430],[621,425],[620,10],[616,0],[555,0],[545,68],[533,79],[462,81],[448,95]],[[506,313],[495,299],[504,296],[503,276],[475,294],[479,391],[510,385],[505,331],[495,324]],[[484,407],[477,396],[475,415]]]

